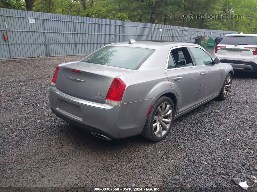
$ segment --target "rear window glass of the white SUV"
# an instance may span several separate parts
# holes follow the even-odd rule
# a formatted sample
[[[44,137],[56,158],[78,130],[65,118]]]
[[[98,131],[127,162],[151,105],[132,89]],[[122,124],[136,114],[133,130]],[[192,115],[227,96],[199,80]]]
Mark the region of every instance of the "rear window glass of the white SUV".
[[[219,44],[223,45],[257,45],[257,37],[255,36],[225,36]]]

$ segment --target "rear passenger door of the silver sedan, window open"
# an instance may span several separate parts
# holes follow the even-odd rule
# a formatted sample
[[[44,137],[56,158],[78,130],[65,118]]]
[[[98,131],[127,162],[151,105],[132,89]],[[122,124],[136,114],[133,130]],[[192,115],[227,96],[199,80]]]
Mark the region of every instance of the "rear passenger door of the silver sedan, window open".
[[[187,47],[179,46],[170,49],[165,73],[171,88],[178,95],[176,114],[195,106],[201,77],[197,66],[192,62]]]

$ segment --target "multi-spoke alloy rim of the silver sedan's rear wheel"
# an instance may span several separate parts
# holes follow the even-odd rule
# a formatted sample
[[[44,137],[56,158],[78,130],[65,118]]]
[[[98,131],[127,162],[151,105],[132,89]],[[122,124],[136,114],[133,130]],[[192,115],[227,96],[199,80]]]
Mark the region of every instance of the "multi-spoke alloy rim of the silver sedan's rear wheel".
[[[157,137],[165,135],[170,128],[172,120],[172,107],[168,102],[163,102],[157,108],[153,118],[153,132]]]

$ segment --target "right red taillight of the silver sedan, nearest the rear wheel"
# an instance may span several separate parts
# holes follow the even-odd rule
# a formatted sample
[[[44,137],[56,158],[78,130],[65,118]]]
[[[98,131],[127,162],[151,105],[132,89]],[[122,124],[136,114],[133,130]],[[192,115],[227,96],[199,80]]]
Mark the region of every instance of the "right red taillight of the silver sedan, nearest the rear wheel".
[[[125,87],[125,83],[120,78],[114,78],[105,101],[115,106],[120,105]]]

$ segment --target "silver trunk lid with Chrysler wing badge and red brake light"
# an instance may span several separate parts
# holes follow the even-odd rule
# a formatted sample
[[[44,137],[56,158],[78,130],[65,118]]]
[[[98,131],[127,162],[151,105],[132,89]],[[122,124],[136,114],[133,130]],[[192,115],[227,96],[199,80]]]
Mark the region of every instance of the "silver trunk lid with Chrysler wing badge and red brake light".
[[[70,96],[104,103],[113,79],[133,72],[135,70],[93,63],[69,63],[60,66],[56,88]]]

